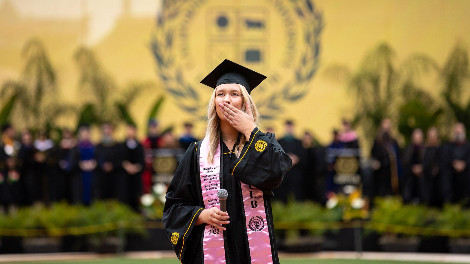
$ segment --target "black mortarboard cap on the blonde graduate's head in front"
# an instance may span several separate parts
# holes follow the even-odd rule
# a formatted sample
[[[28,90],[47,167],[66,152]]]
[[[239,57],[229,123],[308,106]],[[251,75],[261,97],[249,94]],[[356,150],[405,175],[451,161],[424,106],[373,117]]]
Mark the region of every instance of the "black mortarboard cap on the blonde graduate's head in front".
[[[241,84],[245,86],[248,93],[251,93],[251,90],[266,78],[266,76],[254,70],[225,59],[201,83],[214,89],[221,84]]]

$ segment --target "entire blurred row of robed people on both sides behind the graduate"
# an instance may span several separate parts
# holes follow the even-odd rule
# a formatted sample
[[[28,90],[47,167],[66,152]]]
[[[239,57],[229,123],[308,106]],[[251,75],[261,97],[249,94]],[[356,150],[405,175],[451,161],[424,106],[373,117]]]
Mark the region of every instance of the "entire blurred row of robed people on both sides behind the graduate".
[[[87,205],[93,199],[117,199],[139,210],[141,195],[149,193],[154,184],[152,150],[186,149],[198,140],[192,124],[185,123],[184,128],[177,139],[172,129],[160,132],[157,121],[150,120],[147,137],[139,140],[136,127],[129,124],[125,139],[118,141],[114,127],[103,124],[101,140],[94,144],[88,126],[79,127],[76,136],[64,129],[61,140],[55,142],[46,132],[34,138],[30,131],[17,134],[6,124],[0,141],[0,209],[35,202],[66,200]],[[399,147],[391,129],[390,119],[384,119],[370,157],[357,155],[359,187],[364,196],[401,195],[405,202],[431,206],[469,202],[470,143],[463,124],[454,125],[447,142],[441,142],[436,127],[426,131],[426,137],[421,129],[415,129],[405,148]],[[274,132],[272,127],[266,130]],[[274,190],[274,199],[325,203],[330,192],[341,192],[343,187],[335,181],[337,157],[328,153],[360,153],[357,133],[344,120],[342,129],[333,131],[331,143],[321,146],[311,132],[298,139],[294,130],[294,123],[286,121],[283,136],[276,135],[293,166]]]

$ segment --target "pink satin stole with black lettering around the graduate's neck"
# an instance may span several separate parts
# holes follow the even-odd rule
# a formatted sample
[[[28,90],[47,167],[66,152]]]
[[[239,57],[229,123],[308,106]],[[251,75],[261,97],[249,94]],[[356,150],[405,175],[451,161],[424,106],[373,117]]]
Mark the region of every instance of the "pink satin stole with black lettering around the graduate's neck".
[[[207,160],[210,150],[209,142],[208,137],[204,138],[199,149],[201,191],[206,209],[211,207],[220,209],[219,199],[217,198],[217,191],[220,189],[220,143],[214,154],[214,162],[209,163]],[[266,221],[263,192],[255,186],[244,183],[241,183],[241,187],[251,264],[272,264],[273,254]],[[230,212],[228,214],[230,215]],[[235,221],[235,219],[230,220]],[[211,225],[205,226],[203,248],[204,264],[226,263],[224,237],[219,229]]]

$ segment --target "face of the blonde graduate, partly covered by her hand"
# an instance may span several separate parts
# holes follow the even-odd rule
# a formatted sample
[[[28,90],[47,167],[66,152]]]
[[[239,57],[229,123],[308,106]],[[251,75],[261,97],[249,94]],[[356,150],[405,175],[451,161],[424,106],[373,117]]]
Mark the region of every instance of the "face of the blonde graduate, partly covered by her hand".
[[[230,104],[236,109],[242,109],[243,97],[238,84],[222,84],[216,87],[215,92],[215,110],[220,120],[226,120],[224,113],[220,110],[219,104]]]

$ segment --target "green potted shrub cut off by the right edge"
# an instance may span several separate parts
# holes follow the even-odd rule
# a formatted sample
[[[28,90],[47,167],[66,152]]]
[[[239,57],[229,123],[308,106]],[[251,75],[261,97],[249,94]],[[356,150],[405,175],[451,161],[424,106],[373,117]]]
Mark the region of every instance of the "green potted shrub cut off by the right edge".
[[[446,204],[432,227],[441,229],[470,230],[470,210],[460,204]],[[450,232],[448,241],[450,253],[469,253],[470,238],[458,231]],[[467,234],[468,235],[468,234]]]

